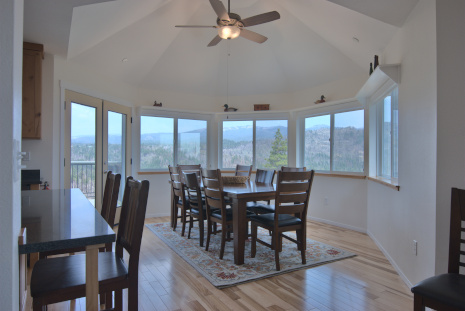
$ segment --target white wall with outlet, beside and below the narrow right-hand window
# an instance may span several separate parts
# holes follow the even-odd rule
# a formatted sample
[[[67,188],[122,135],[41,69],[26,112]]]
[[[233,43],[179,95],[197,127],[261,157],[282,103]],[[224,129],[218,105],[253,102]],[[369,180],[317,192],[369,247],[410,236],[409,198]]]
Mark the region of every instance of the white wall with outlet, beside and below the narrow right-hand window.
[[[368,182],[368,231],[404,281],[434,273],[436,211],[435,2],[420,0],[386,48],[383,63],[401,63],[400,191]],[[418,241],[418,255],[412,253]]]

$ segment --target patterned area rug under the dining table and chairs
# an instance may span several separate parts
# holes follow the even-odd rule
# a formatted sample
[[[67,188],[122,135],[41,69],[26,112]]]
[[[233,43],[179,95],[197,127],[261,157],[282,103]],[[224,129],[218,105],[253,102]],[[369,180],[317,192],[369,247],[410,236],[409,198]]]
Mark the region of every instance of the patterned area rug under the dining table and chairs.
[[[255,258],[250,257],[249,238],[245,244],[245,263],[237,266],[234,264],[233,241],[226,242],[223,260],[218,258],[221,234],[211,236],[210,247],[206,252],[205,247],[199,245],[197,225],[192,229],[190,239],[187,239],[187,228],[185,236],[182,237],[181,228],[178,227],[176,231],[173,231],[169,223],[147,224],[146,226],[217,288],[226,288],[356,256],[354,253],[331,245],[307,239],[307,264],[302,265],[300,251],[297,250],[296,244],[283,239],[283,250],[279,256],[281,271],[276,271],[274,251],[270,248],[257,243],[257,254]],[[271,242],[268,231],[262,228],[258,230],[259,239]],[[287,235],[293,234],[287,233]],[[295,235],[292,237],[295,238]],[[204,245],[205,243],[206,237]]]

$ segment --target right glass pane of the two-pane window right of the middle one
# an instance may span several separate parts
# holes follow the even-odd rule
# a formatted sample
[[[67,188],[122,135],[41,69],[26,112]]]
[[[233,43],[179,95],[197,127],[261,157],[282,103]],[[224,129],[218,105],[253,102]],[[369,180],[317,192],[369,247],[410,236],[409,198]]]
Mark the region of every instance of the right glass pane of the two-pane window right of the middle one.
[[[363,172],[363,110],[334,115],[333,171]]]

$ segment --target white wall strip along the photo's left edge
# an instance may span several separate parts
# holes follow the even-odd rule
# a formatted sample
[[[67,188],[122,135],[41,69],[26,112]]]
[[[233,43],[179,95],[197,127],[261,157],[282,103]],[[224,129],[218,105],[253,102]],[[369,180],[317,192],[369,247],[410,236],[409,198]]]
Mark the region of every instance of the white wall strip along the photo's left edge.
[[[23,0],[2,0],[0,9],[0,306],[19,309],[18,235],[21,227]]]

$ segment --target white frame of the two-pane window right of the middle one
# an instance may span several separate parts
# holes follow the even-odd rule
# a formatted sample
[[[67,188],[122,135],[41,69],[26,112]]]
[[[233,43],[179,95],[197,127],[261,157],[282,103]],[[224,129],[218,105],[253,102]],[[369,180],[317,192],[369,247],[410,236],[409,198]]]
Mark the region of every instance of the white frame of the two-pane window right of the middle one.
[[[363,111],[363,170],[361,172],[347,172],[347,171],[336,171],[334,170],[334,116],[338,113],[351,112],[351,111]],[[319,117],[319,116],[330,116],[330,170],[315,170],[317,173],[322,174],[337,174],[337,175],[355,175],[355,176],[366,176],[368,160],[368,132],[367,132],[367,115],[368,112],[364,105],[357,100],[341,101],[336,102],[332,105],[322,105],[322,107],[306,109],[303,111],[296,111],[300,116],[297,118],[297,159],[296,163],[298,166],[305,166],[305,120],[307,118]],[[312,169],[307,167],[307,169]]]

